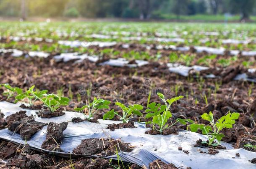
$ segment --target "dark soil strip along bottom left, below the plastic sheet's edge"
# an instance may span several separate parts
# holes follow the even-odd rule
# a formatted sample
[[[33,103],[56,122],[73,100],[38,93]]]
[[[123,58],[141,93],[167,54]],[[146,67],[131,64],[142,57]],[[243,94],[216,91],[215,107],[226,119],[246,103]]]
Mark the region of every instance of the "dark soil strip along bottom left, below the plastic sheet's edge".
[[[118,167],[116,161],[110,161],[109,159],[91,159],[91,158],[80,158],[70,159],[57,156],[50,156],[43,154],[42,152],[36,152],[30,149],[29,144],[16,145],[7,141],[0,140],[0,159],[6,161],[6,164],[1,165],[3,169],[45,169],[45,168],[56,168],[60,169],[73,168],[75,169],[114,169],[113,166]],[[112,165],[112,166],[111,166]],[[126,166],[127,164],[125,164]],[[128,168],[141,169],[137,164],[129,164]]]

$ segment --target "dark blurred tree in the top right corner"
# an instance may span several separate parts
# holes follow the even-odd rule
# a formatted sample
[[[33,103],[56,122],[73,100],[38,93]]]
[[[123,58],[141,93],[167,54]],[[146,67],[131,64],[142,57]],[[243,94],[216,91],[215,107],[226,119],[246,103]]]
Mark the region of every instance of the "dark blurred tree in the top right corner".
[[[241,13],[240,20],[249,20],[254,4],[255,0],[230,0],[232,13]]]

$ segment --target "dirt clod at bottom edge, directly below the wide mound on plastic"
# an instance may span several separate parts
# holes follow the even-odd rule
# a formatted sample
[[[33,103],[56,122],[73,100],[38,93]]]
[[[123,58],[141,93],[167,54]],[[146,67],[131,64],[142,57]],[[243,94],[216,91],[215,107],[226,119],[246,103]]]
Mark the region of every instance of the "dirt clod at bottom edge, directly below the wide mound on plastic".
[[[81,159],[76,164],[76,169],[107,169],[110,160],[108,159]]]

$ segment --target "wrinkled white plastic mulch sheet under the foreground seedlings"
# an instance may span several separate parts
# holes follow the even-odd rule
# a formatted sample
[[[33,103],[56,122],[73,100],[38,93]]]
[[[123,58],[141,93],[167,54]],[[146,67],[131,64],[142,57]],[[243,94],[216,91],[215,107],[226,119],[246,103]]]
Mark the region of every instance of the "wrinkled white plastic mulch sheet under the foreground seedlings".
[[[13,104],[8,102],[0,102],[0,109],[5,114],[5,117],[10,114],[16,113],[22,110],[19,107],[20,104]],[[250,161],[256,158],[256,153],[247,151],[245,149],[234,149],[231,144],[222,142],[223,146],[226,146],[226,150],[218,150],[219,153],[215,155],[202,154],[199,149],[206,151],[207,149],[194,147],[196,140],[203,139],[206,137],[201,134],[192,133],[190,131],[179,131],[178,135],[149,135],[144,134],[146,129],[142,123],[136,123],[134,129],[116,129],[110,131],[105,129],[107,124],[119,123],[118,121],[110,120],[99,120],[99,124],[84,121],[81,123],[72,123],[73,117],[84,118],[84,115],[76,112],[66,112],[65,115],[60,117],[54,117],[50,119],[42,119],[37,117],[35,111],[26,110],[27,115],[33,114],[36,121],[42,121],[45,123],[56,122],[60,123],[68,121],[68,127],[64,131],[64,139],[60,145],[61,149],[65,152],[54,152],[55,155],[69,156],[70,152],[73,151],[76,146],[81,143],[83,139],[89,138],[112,138],[121,139],[123,142],[130,143],[136,148],[130,152],[120,152],[119,156],[123,161],[136,163],[140,166],[147,166],[148,164],[156,159],[161,159],[165,163],[173,163],[177,167],[186,168],[187,166],[193,169],[205,169],[205,168],[225,168],[225,169],[254,169],[255,164]],[[15,142],[17,144],[29,144],[34,149],[40,149],[42,142],[46,136],[47,126],[41,131],[38,131],[29,141],[21,139],[19,134],[13,134],[8,129],[0,130],[0,139]],[[185,154],[183,151],[179,151],[178,147],[181,146],[183,150],[189,151],[189,154]],[[47,151],[44,151],[47,153]],[[51,153],[49,151],[48,153]],[[235,156],[236,153],[240,154],[240,157]],[[72,155],[72,154],[71,154]],[[75,156],[75,155],[74,155]],[[117,159],[116,155],[108,156],[107,158]]]

